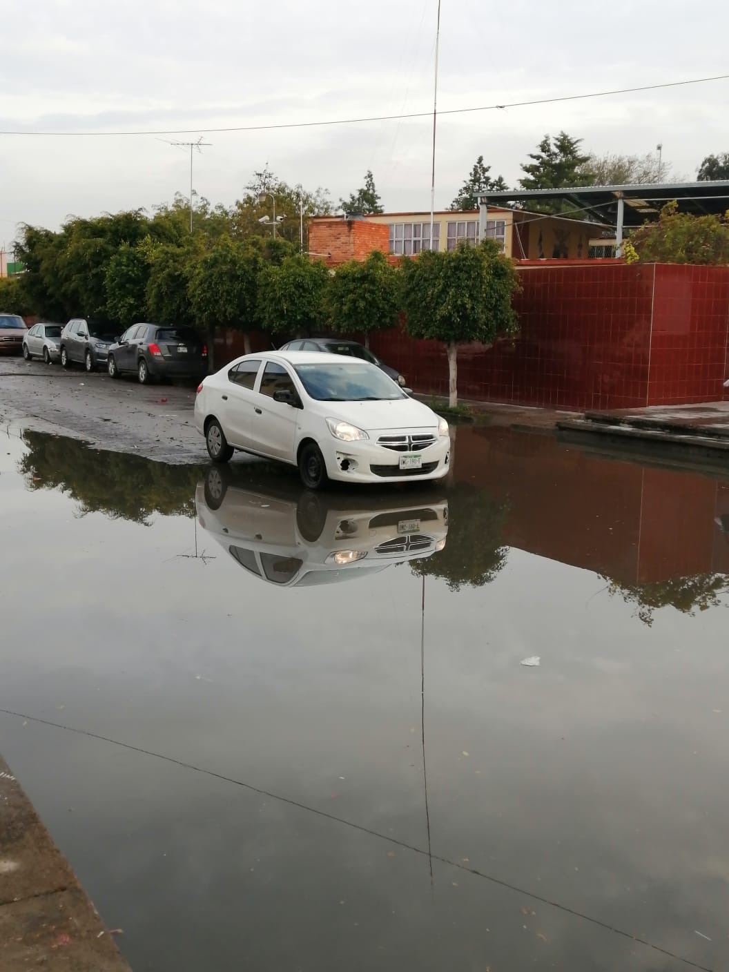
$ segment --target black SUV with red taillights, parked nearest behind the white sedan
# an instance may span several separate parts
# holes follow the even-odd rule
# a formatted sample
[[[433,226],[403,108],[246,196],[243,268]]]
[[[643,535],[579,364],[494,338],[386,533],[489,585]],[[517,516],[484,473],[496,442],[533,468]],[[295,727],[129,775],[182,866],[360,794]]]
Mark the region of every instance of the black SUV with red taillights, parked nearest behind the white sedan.
[[[133,324],[109,348],[112,378],[133,372],[141,385],[157,378],[201,378],[208,370],[208,349],[191,328],[168,324]]]

